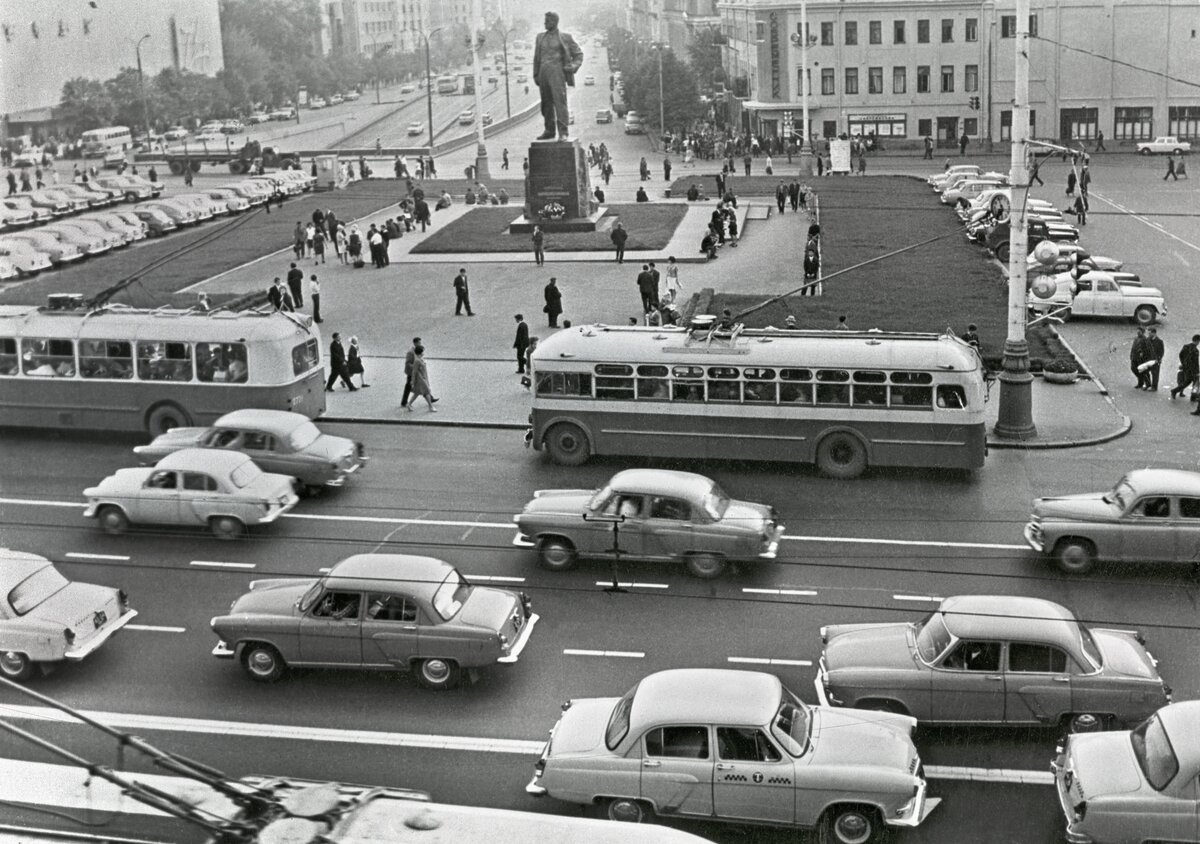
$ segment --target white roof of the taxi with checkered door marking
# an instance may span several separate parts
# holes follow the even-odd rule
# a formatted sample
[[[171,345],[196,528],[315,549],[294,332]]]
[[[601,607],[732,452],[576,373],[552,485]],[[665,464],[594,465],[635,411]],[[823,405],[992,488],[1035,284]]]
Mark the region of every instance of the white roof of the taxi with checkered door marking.
[[[779,710],[782,683],[761,671],[670,669],[637,686],[630,735],[656,724],[768,724]]]

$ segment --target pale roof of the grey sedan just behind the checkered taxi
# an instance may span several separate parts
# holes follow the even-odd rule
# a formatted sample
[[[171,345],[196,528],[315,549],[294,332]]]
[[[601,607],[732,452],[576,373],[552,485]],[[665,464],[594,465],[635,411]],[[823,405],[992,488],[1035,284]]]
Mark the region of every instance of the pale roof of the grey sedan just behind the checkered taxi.
[[[1018,639],[1074,651],[1078,622],[1066,606],[1019,595],[955,595],[938,606],[959,639]]]

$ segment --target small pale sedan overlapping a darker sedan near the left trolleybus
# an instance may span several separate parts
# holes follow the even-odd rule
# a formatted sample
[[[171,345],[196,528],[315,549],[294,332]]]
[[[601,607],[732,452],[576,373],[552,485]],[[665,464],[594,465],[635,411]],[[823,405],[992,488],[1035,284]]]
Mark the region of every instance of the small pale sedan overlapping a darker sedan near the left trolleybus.
[[[84,515],[112,534],[131,523],[185,525],[236,539],[248,526],[268,525],[295,507],[292,487],[292,478],[263,472],[245,454],[190,448],[152,468],[118,469],[84,490]]]

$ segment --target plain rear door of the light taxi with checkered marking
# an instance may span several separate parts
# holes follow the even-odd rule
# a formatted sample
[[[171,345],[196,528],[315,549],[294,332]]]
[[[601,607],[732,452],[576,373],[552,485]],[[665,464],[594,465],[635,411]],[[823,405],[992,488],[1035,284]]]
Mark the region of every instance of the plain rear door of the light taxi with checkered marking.
[[[642,737],[642,798],[661,814],[713,814],[713,750],[707,724],[660,726]]]

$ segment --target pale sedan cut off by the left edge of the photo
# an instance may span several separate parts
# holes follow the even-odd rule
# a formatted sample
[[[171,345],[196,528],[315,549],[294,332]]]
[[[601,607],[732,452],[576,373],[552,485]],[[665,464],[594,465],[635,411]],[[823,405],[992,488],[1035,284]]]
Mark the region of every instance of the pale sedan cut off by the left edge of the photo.
[[[77,663],[137,618],[121,589],[70,581],[49,559],[0,549],[0,677]]]

